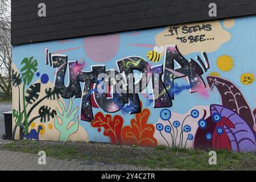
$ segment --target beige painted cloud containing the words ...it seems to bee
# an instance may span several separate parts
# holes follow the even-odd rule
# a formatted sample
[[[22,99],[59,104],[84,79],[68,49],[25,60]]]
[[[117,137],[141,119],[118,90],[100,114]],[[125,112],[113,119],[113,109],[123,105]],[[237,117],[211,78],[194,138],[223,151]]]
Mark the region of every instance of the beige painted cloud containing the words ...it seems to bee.
[[[193,52],[213,52],[228,42],[231,35],[220,21],[168,26],[155,37],[157,46],[176,44],[183,55]]]

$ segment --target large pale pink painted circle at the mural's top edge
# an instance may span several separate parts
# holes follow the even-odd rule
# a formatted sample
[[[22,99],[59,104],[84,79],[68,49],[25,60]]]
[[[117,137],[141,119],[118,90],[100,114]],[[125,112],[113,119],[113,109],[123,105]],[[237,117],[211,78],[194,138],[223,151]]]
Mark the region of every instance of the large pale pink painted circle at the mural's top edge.
[[[120,45],[120,35],[90,36],[84,38],[84,49],[86,55],[96,62],[105,62],[117,55]]]

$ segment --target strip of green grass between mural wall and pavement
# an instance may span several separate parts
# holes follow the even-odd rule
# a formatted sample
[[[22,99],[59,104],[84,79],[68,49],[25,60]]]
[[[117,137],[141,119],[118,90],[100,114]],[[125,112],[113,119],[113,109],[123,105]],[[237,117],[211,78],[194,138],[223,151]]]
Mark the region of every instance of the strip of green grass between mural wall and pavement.
[[[151,168],[176,168],[187,170],[256,170],[256,154],[216,151],[217,165],[210,165],[210,150],[188,150],[184,148],[121,146],[107,143],[51,142],[16,140],[0,147],[10,150],[38,154],[45,151],[56,159],[92,160],[105,163],[134,164]]]

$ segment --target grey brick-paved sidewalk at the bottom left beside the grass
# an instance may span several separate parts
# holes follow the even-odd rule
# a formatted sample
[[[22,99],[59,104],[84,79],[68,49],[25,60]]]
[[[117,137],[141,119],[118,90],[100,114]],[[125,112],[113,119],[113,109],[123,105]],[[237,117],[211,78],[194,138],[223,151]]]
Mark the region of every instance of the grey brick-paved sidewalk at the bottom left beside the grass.
[[[22,171],[150,171],[164,170],[137,167],[128,164],[106,164],[79,160],[46,158],[46,165],[38,164],[38,155],[0,150],[0,170]]]

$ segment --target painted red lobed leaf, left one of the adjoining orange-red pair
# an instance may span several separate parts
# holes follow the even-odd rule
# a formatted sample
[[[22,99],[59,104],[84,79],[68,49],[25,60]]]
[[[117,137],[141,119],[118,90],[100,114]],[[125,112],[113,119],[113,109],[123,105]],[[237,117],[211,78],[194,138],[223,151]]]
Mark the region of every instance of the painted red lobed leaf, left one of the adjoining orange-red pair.
[[[112,144],[122,144],[121,131],[123,127],[123,118],[119,115],[115,115],[112,119],[112,115],[98,112],[95,115],[94,121],[90,123],[93,127],[104,127],[104,135],[110,138]]]

